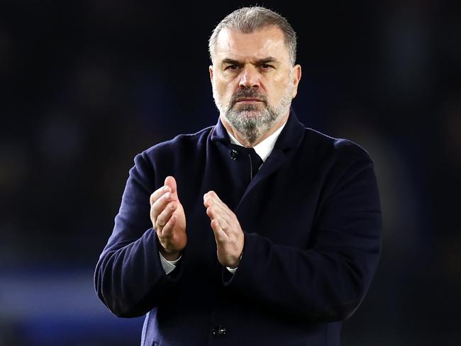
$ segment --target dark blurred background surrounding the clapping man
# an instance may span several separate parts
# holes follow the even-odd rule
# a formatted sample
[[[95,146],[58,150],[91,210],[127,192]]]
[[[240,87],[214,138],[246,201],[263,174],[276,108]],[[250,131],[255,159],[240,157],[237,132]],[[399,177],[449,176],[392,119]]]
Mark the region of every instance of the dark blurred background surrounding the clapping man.
[[[342,345],[461,345],[461,1],[277,2],[258,4],[299,36],[301,122],[379,179],[382,259]],[[252,4],[1,1],[1,346],[139,344],[94,265],[133,157],[216,123],[207,40]]]

